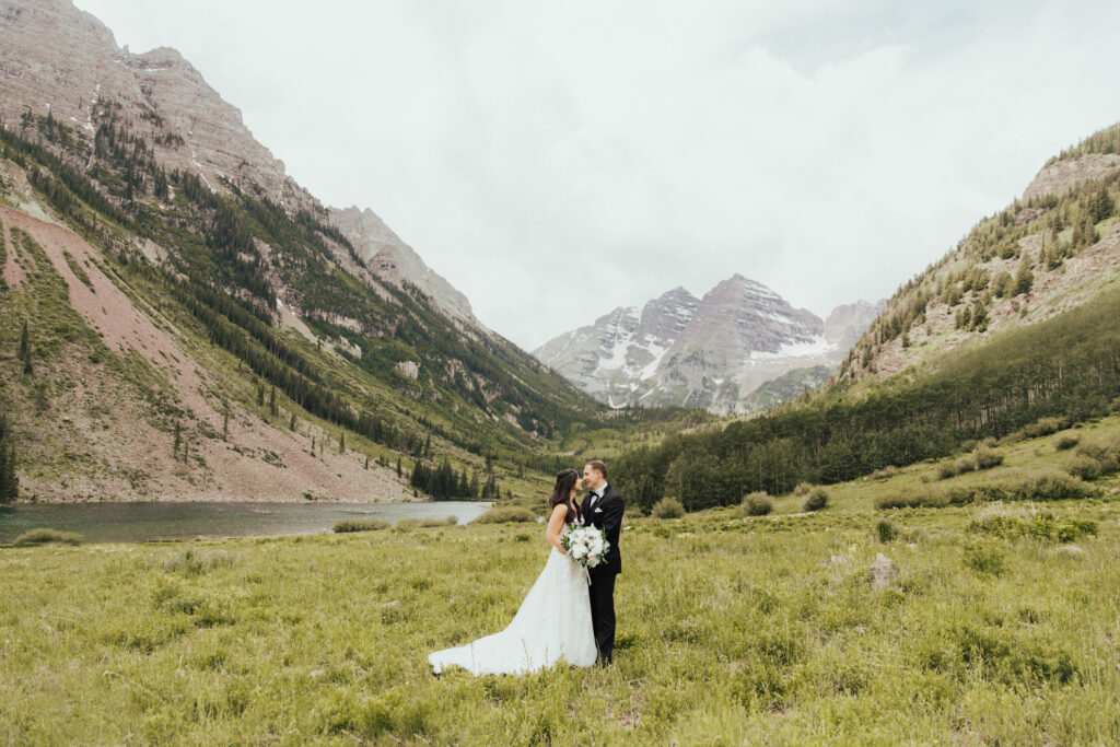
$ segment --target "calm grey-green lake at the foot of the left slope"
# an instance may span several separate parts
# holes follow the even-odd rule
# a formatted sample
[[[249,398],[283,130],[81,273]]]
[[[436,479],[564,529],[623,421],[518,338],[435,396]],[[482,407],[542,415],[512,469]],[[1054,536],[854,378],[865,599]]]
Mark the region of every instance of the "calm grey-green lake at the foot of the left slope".
[[[29,529],[77,532],[86,542],[314,534],[344,519],[440,519],[469,522],[489,503],[30,503],[0,508],[0,543]]]

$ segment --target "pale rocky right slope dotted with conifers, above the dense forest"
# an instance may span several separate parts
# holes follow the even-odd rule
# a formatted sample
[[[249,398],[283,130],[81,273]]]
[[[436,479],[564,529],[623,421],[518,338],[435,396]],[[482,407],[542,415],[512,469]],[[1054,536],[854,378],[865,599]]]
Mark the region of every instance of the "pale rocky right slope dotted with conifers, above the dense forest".
[[[899,287],[841,367],[848,383],[936,366],[954,348],[1051,319],[1120,273],[1120,124],[1063,151],[1021,199]]]

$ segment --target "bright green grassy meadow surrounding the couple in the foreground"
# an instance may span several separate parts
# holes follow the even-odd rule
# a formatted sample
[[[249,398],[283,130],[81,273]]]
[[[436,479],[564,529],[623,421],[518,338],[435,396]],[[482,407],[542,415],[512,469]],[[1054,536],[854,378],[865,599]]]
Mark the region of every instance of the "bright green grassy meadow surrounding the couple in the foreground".
[[[1056,469],[1057,439],[1118,431],[831,486],[812,514],[790,495],[767,516],[634,516],[608,670],[429,672],[513,617],[540,524],[3,549],[0,743],[1116,744],[1116,478],[1077,501],[874,506]],[[884,589],[878,553],[899,570]]]

